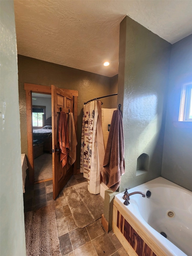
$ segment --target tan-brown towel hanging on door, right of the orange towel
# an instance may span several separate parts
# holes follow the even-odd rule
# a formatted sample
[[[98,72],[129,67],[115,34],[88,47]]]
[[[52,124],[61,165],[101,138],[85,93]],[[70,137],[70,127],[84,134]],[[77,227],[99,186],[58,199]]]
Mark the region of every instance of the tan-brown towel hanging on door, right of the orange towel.
[[[70,144],[70,148],[68,150],[68,162],[70,165],[72,165],[76,160],[76,145],[77,145],[73,113],[69,113],[69,116],[68,116],[68,131],[69,131],[69,144]]]

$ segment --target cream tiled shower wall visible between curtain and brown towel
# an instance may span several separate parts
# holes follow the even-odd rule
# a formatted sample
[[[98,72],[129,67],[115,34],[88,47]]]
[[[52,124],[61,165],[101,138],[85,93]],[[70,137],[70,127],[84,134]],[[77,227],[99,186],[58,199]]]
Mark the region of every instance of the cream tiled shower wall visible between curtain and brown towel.
[[[107,140],[109,136],[108,125],[111,124],[111,119],[113,116],[113,111],[116,108],[102,108],[102,129],[103,129],[103,136],[104,136],[104,145],[105,148],[107,146]]]

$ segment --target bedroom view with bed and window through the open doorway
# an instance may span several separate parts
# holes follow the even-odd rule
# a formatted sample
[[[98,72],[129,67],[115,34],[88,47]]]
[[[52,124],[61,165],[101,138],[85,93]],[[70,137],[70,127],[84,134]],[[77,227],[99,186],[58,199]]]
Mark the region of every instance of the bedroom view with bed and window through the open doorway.
[[[35,183],[52,180],[51,95],[32,92]]]

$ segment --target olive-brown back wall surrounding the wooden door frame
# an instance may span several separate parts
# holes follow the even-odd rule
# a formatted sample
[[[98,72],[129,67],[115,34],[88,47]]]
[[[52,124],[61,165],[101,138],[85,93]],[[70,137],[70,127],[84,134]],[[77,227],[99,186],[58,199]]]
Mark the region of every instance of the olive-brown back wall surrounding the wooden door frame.
[[[113,90],[114,87],[116,87],[116,77],[105,77],[21,55],[18,55],[18,71],[21,152],[27,154],[26,96],[24,83],[45,86],[51,86],[53,84],[60,88],[77,90],[79,92],[77,121],[77,168],[79,168],[83,104],[92,98],[110,95],[111,83]],[[102,102],[102,106],[104,108],[111,108],[110,97],[103,98]]]

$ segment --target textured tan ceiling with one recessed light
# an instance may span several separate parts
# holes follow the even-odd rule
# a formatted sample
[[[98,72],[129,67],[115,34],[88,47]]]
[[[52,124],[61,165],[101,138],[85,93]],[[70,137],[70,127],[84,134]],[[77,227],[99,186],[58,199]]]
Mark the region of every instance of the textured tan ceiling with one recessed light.
[[[108,77],[118,74],[126,15],[172,44],[192,34],[190,0],[15,0],[14,6],[18,54]]]

